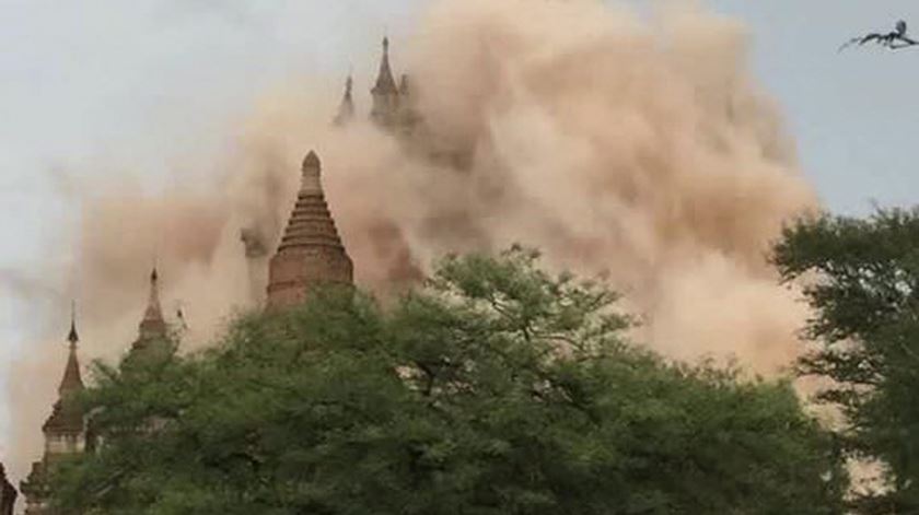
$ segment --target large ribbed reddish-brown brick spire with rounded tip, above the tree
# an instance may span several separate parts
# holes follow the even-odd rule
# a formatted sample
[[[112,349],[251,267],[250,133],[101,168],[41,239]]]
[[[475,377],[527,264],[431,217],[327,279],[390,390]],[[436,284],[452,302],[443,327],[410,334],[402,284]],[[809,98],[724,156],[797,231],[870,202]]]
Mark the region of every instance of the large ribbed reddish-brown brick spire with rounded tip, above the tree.
[[[353,283],[353,265],[323,192],[315,152],[303,160],[302,182],[278,251],[268,268],[268,307],[289,307],[323,283]]]

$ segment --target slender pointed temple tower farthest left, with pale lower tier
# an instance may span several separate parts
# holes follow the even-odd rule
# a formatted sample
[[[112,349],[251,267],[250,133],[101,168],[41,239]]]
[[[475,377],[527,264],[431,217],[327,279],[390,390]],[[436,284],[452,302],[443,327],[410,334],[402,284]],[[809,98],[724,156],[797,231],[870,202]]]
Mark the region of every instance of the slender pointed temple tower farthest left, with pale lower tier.
[[[26,515],[48,515],[48,468],[61,457],[82,453],[86,446],[85,417],[73,399],[83,390],[83,378],[80,374],[80,361],[77,358],[77,346],[80,337],[77,335],[75,317],[70,320],[70,333],[67,336],[69,355],[63,368],[63,378],[58,386],[58,400],[55,402],[51,415],[42,426],[45,434],[45,453],[40,461],[32,464],[28,478],[20,485],[25,495]]]

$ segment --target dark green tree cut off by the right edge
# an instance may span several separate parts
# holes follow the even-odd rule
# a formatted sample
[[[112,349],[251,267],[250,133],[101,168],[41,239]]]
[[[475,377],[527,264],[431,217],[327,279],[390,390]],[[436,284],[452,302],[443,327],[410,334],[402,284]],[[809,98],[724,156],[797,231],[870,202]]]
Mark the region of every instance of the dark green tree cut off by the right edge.
[[[868,219],[801,220],[788,227],[775,261],[804,284],[814,309],[806,336],[818,347],[801,373],[831,379],[818,399],[841,409],[846,448],[880,459],[888,491],[877,513],[919,511],[919,211]]]

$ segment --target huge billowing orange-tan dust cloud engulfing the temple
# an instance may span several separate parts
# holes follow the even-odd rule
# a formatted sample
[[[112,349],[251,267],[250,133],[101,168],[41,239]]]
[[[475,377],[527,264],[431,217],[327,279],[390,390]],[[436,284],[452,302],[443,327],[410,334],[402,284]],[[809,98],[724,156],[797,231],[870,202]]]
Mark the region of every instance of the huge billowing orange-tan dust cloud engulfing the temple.
[[[112,359],[136,335],[155,256],[165,311],[181,304],[191,324],[185,346],[205,344],[235,309],[258,303],[261,272],[240,231],[274,246],[300,160],[316,149],[365,286],[411,279],[444,251],[522,243],[554,267],[606,274],[644,319],[637,338],[665,354],[735,355],[773,373],[796,354],[804,313],[765,255],[782,222],[816,200],[748,73],[746,44],[738,24],[685,4],[649,21],[593,0],[438,2],[393,48],[427,119],[410,145],[369,126],[363,94],[357,122],[334,129],[339,92],[284,84],[253,107],[235,154],[213,157],[220,172],[208,187],[77,188],[78,262],[47,271],[57,281],[47,288],[79,294],[92,335],[83,362]],[[418,157],[432,149],[472,157],[462,169]],[[49,304],[56,341],[67,304]],[[18,363],[5,391],[16,478],[40,454],[65,360],[60,346],[33,349],[49,350]]]

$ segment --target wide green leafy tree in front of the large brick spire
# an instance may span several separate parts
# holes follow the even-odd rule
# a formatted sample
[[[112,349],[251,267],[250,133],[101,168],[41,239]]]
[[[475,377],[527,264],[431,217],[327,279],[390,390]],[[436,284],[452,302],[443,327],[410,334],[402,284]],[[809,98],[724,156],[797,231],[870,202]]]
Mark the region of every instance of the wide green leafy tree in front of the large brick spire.
[[[601,283],[519,248],[383,306],[327,290],[212,350],[100,366],[105,514],[833,514],[845,475],[787,382],[667,364]],[[155,421],[155,423],[151,423]]]

